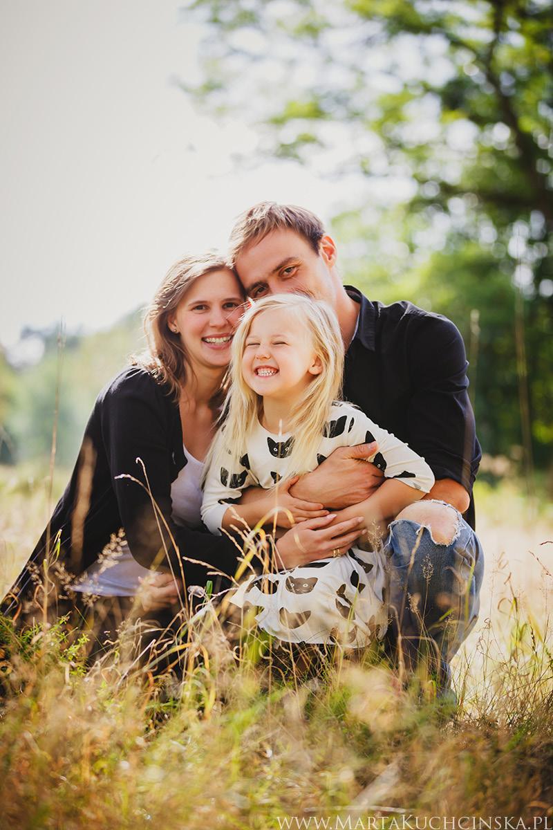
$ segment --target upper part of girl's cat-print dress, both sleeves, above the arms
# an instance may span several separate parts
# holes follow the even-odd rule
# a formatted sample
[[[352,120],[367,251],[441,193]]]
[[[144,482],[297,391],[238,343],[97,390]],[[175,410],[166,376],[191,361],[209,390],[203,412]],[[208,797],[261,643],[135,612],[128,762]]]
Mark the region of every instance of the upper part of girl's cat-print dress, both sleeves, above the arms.
[[[373,441],[378,442],[378,452],[369,461],[376,464],[386,478],[397,478],[424,493],[432,489],[434,474],[424,458],[391,432],[378,427],[354,404],[343,401],[332,403],[311,469],[314,470],[337,447],[354,447]],[[247,437],[245,447],[240,447],[237,469],[228,469],[226,452],[216,455],[206,476],[201,505],[201,518],[211,533],[221,533],[226,510],[233,500],[240,498],[245,487],[258,485],[265,490],[274,487],[286,471],[292,442],[290,432],[274,435],[258,422]]]

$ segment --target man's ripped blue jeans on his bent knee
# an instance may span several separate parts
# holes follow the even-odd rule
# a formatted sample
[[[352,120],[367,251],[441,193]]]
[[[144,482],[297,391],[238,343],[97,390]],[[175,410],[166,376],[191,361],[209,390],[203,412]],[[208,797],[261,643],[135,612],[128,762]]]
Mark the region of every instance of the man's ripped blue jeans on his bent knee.
[[[408,670],[429,660],[437,683],[449,686],[449,662],[478,618],[484,571],[477,535],[451,505],[457,526],[449,544],[409,519],[390,524],[384,543],[390,569],[386,651]]]

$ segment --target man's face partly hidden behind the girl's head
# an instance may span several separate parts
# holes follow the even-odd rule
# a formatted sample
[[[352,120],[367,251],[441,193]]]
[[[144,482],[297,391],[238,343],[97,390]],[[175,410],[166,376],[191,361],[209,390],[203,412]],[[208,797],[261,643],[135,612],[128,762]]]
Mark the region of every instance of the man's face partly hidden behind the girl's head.
[[[298,233],[279,229],[242,251],[235,270],[252,300],[296,292],[327,300],[334,307],[335,261],[336,247],[330,237],[323,237],[315,253]]]

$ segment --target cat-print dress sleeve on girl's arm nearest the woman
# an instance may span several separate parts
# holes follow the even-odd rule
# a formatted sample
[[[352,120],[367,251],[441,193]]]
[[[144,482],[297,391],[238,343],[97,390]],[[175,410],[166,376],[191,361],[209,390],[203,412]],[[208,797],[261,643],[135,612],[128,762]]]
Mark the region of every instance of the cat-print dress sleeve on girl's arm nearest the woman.
[[[229,506],[240,500],[242,491],[259,484],[250,470],[248,453],[242,453],[233,464],[230,454],[221,446],[220,435],[215,439],[216,450],[207,471],[201,504],[201,520],[213,534],[221,534],[223,516]]]

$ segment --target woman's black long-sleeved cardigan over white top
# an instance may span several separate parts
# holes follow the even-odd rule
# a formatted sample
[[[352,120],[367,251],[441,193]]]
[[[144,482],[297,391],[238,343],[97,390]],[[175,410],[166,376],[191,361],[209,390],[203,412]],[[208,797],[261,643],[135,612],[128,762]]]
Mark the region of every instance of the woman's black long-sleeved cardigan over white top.
[[[36,583],[33,571],[36,574],[37,565],[42,568],[47,541],[51,547],[58,533],[57,561],[64,566],[62,571],[75,576],[98,559],[120,528],[134,559],[145,568],[154,561],[156,567],[168,568],[165,545],[176,573],[180,573],[180,557],[192,557],[234,574],[239,549],[231,540],[175,525],[171,519],[172,481],[186,463],[179,408],[169,390],[141,367],[124,369],[96,399],[70,482],[14,586],[19,597],[31,598]],[[153,500],[178,551],[163,520],[156,518]],[[185,560],[183,569],[187,584],[206,583],[209,568]],[[4,608],[10,610],[11,604],[4,603]]]

